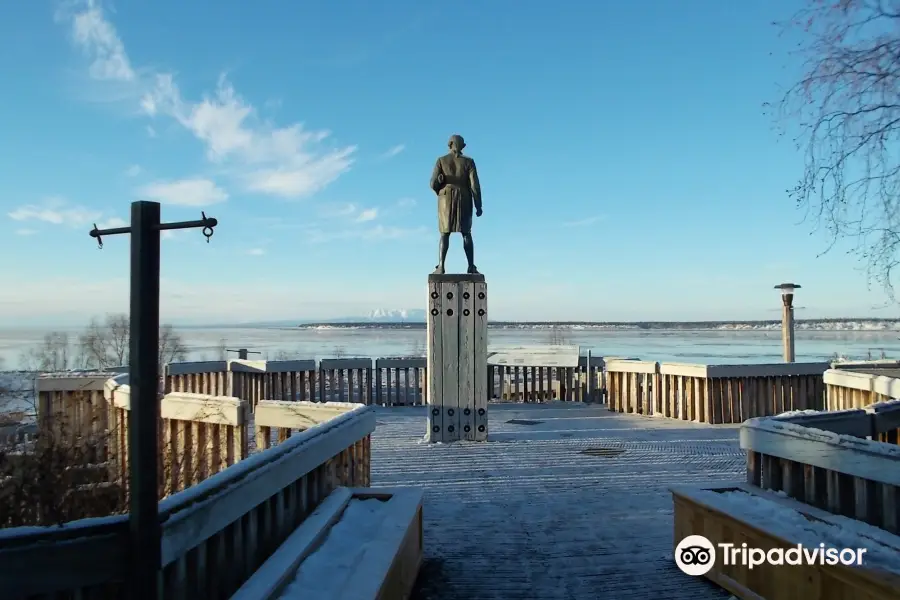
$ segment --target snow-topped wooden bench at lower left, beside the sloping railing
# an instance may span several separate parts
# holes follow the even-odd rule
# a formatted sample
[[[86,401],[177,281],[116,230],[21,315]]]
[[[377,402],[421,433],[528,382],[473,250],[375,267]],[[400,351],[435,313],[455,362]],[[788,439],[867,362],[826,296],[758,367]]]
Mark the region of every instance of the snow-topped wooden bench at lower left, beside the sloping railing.
[[[336,489],[232,600],[406,600],[422,564],[422,495]]]

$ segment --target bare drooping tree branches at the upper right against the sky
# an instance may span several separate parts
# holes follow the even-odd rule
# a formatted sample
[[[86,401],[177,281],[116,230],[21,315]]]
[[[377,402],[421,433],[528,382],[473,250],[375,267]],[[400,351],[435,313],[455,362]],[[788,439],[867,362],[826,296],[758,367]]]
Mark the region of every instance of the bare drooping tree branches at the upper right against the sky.
[[[774,116],[804,152],[788,190],[807,219],[851,239],[870,281],[893,299],[900,250],[900,0],[807,0],[785,32],[800,32],[803,73]],[[786,134],[786,131],[782,131]],[[826,252],[828,251],[826,250]]]

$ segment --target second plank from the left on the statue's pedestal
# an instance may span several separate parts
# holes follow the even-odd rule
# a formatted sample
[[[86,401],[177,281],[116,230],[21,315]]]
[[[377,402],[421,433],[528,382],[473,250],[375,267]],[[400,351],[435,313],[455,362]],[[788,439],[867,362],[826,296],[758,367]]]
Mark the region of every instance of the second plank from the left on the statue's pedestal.
[[[459,435],[459,293],[460,285],[456,282],[441,283],[441,366],[444,371],[441,379],[443,390],[443,437],[442,441],[452,442],[460,439]]]

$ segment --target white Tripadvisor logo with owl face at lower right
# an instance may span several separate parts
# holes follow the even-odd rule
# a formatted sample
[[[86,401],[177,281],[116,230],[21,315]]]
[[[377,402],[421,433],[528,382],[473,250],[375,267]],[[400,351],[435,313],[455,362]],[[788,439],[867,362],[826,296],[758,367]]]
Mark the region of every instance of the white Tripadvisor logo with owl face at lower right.
[[[862,565],[865,548],[829,548],[825,544],[790,548],[751,548],[747,544],[713,545],[702,535],[689,535],[675,547],[675,564],[687,575],[706,575],[715,566],[716,558],[722,565],[743,565],[750,569],[769,565]]]

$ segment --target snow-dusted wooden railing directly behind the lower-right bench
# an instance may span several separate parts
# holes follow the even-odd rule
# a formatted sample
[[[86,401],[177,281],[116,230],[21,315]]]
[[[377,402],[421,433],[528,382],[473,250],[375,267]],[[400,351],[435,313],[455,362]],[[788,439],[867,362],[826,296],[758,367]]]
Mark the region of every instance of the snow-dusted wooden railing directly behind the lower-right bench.
[[[900,401],[752,419],[747,483],[900,533]]]

